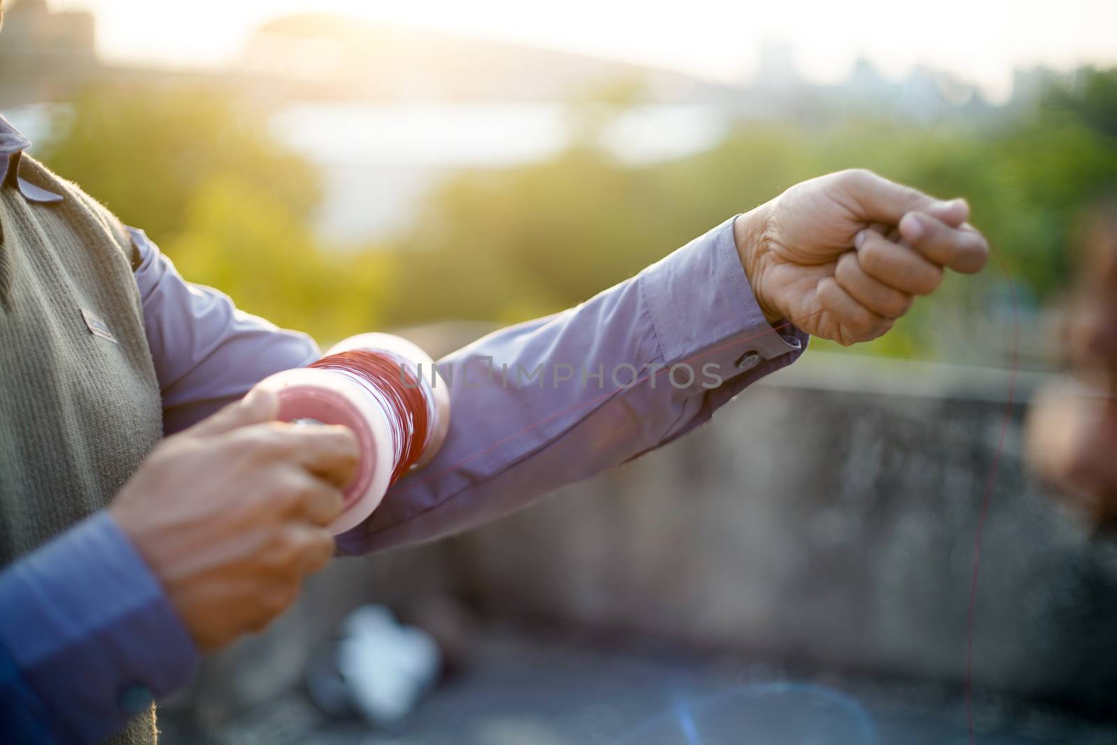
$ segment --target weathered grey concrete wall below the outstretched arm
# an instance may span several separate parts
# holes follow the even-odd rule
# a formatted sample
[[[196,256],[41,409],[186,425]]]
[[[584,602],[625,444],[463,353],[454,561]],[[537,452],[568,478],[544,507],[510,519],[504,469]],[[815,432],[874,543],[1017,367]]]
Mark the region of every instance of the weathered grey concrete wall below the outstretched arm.
[[[464,536],[474,598],[495,615],[964,680],[1008,376],[815,362],[652,457]],[[1117,547],[1029,478],[1022,414],[1012,407],[985,522],[974,680],[1104,701]]]

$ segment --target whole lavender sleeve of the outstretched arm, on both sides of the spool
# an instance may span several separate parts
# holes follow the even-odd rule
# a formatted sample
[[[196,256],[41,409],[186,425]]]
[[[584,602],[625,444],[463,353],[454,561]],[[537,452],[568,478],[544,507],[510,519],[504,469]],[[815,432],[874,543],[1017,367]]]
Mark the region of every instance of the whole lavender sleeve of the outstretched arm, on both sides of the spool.
[[[317,359],[307,337],[185,283],[146,236],[134,239],[168,431]],[[765,321],[728,220],[575,308],[440,361],[455,379],[446,443],[338,546],[360,553],[424,541],[525,506],[697,427],[791,364],[806,341],[789,323],[775,329]]]

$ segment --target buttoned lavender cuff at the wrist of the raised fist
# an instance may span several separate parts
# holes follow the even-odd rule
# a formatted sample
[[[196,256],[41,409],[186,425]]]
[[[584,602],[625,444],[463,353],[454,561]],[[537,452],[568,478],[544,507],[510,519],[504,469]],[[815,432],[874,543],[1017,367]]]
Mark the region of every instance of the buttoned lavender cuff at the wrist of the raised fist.
[[[723,379],[766,374],[799,359],[808,334],[770,324],[753,295],[731,218],[641,273],[665,363],[716,365]],[[758,375],[750,375],[750,382]]]

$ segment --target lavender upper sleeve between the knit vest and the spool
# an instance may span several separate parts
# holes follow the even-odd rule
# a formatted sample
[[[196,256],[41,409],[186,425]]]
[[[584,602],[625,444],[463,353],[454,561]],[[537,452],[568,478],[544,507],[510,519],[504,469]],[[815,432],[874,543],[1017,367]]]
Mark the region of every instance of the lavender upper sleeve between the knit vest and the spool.
[[[212,287],[185,281],[142,230],[128,231],[168,434],[236,401],[271,373],[318,359],[309,336],[238,309]]]

